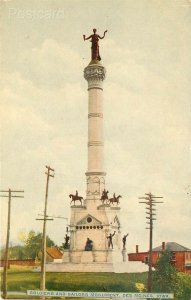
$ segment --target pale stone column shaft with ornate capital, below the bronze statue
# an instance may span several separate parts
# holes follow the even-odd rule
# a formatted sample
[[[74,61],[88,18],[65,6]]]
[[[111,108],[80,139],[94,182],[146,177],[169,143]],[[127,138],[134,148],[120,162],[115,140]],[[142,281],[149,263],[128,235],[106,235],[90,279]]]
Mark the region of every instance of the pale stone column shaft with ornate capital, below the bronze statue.
[[[100,199],[105,187],[103,140],[103,80],[105,68],[101,63],[90,63],[84,69],[88,82],[88,169],[87,199]]]

